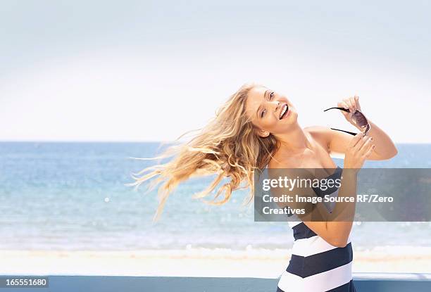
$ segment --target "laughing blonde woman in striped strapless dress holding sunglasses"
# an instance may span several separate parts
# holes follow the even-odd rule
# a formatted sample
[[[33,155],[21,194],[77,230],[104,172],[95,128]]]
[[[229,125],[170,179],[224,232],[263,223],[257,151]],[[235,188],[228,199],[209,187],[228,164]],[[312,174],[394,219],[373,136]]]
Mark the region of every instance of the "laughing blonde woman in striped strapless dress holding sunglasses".
[[[338,106],[349,109],[350,113],[342,113],[352,123],[355,110],[361,110],[356,96],[340,101]],[[152,187],[164,182],[158,189],[160,201],[156,219],[169,193],[178,183],[192,176],[218,174],[195,198],[208,196],[224,177],[229,177],[230,181],[218,189],[211,202],[223,204],[232,196],[232,191],[246,187],[250,188],[248,201],[251,201],[255,170],[261,171],[265,167],[335,168],[331,155],[337,154],[344,155],[344,168],[359,169],[366,159],[385,160],[397,153],[387,134],[370,120],[368,135],[351,136],[325,127],[303,129],[297,117],[296,109],[286,96],[258,84],[244,84],[196,137],[187,144],[169,148],[160,156],[175,155],[173,160],[142,170],[137,174],[140,177],[135,177],[135,185],[156,176]],[[149,173],[144,174],[146,171]],[[242,182],[245,184],[241,185]],[[224,197],[218,200],[221,193]],[[294,231],[301,236],[295,243],[301,242],[303,250],[304,246],[308,248],[308,255],[292,255],[277,291],[355,291],[351,281],[351,226],[352,222],[296,224]],[[323,253],[322,249],[325,250]],[[314,259],[317,254],[325,255],[318,259],[319,266],[305,270],[304,259]],[[344,261],[349,258],[348,262],[337,265],[339,255]],[[305,274],[294,272],[298,270],[295,267],[298,260],[302,261],[300,272]]]

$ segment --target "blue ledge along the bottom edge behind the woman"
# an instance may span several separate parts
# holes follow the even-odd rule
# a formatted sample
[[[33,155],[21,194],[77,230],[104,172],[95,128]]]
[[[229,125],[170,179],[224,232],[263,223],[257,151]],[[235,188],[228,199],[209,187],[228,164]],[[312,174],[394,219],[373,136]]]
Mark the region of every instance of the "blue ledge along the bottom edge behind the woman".
[[[272,292],[277,288],[277,281],[224,277],[49,276],[49,288],[1,288],[1,292]],[[431,274],[355,273],[354,281],[358,292],[431,291]]]

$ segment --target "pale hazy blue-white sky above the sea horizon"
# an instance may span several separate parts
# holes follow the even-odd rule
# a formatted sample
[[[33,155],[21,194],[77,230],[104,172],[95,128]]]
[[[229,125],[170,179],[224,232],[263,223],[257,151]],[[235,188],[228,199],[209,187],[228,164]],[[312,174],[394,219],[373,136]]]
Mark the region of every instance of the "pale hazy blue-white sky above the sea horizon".
[[[1,1],[0,141],[172,141],[245,82],[431,143],[430,1]]]

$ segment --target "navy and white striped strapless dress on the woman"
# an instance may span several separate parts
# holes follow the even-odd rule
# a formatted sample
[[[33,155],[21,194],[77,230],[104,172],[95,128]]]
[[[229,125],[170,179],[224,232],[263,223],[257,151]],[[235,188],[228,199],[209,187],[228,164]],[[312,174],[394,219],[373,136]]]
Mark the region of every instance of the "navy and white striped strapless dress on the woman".
[[[341,177],[342,168],[327,178]],[[314,189],[318,196],[337,196],[336,187],[324,193]],[[335,203],[326,207],[331,212]],[[332,246],[309,229],[304,222],[289,222],[293,229],[294,245],[292,257],[278,282],[277,292],[355,292],[351,276],[353,250],[350,236],[344,248]]]

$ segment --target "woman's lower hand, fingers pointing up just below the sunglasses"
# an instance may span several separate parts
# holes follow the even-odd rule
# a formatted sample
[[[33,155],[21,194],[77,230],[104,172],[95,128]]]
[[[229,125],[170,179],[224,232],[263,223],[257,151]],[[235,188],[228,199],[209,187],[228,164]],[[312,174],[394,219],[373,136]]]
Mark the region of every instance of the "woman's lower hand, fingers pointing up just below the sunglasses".
[[[354,168],[359,171],[374,148],[373,137],[365,136],[363,133],[356,134],[346,148],[344,168]]]

